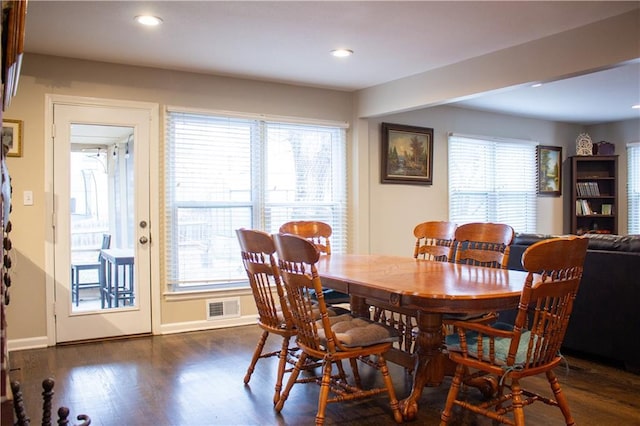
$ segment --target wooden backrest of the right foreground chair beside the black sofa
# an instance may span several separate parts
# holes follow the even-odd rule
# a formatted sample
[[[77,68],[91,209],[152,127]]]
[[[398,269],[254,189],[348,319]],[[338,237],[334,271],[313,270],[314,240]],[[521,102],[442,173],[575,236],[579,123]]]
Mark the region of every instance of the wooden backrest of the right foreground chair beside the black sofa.
[[[576,236],[552,238],[531,245],[522,254],[522,266],[529,274],[520,297],[508,365],[515,360],[524,330],[530,332],[525,367],[543,365],[558,356],[582,278],[588,241]],[[541,280],[534,282],[534,274],[541,274]]]

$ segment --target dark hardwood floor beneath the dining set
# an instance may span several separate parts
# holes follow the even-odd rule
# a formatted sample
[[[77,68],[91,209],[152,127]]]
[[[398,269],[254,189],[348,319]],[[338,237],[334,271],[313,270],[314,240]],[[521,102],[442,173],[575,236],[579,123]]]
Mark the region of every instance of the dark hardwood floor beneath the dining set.
[[[137,337],[10,353],[10,376],[22,384],[32,424],[41,422],[42,380],[55,379],[54,411],[68,406],[71,417],[88,414],[92,425],[302,425],[313,424],[319,387],[294,386],[284,409],[273,409],[277,360],[258,362],[249,386],[243,377],[258,340],[257,326]],[[279,338],[270,337],[276,349]],[[568,357],[558,375],[579,425],[640,425],[640,376]],[[411,381],[389,364],[399,398]],[[363,379],[368,375],[362,367]],[[285,376],[285,380],[286,380]],[[413,424],[436,425],[450,381],[425,388]],[[527,382],[548,389],[544,379]],[[469,397],[477,391],[470,389]],[[328,425],[395,424],[385,397],[329,404]],[[563,424],[560,410],[537,403],[526,411],[527,424]],[[489,425],[474,415],[459,415],[454,425]]]

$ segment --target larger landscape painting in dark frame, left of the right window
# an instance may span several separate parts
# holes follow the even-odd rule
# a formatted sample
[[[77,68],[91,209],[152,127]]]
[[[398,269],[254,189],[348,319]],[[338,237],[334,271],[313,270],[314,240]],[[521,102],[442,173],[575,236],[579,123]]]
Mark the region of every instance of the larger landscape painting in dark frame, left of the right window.
[[[381,182],[433,183],[433,129],[382,123]]]

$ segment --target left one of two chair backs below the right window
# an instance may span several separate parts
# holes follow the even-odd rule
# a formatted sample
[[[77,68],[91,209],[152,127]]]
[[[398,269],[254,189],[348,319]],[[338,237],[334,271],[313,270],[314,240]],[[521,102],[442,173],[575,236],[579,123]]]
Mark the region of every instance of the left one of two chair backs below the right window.
[[[456,224],[452,222],[422,222],[413,228],[416,245],[413,257],[446,262],[451,260]]]

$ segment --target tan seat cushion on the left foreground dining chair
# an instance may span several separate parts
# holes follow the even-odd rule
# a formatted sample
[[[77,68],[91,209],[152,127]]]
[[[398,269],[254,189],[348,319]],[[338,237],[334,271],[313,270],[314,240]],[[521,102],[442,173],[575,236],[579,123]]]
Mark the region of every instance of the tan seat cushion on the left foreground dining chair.
[[[336,339],[344,346],[370,346],[379,343],[397,342],[398,331],[392,327],[370,321],[365,318],[354,317],[351,314],[337,315],[329,317],[331,330],[336,335]],[[317,321],[320,338],[325,340],[322,321]]]

